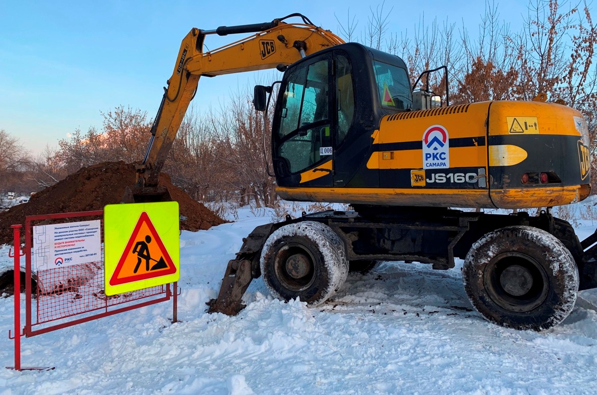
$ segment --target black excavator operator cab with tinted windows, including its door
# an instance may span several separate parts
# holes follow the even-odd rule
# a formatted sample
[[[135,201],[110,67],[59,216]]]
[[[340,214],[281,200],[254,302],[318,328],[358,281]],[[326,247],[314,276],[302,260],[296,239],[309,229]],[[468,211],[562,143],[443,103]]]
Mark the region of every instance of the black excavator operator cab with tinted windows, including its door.
[[[411,103],[402,59],[361,44],[336,45],[289,66],[272,123],[278,185],[351,186],[356,177],[360,187],[378,186],[363,169],[371,135],[384,115]]]

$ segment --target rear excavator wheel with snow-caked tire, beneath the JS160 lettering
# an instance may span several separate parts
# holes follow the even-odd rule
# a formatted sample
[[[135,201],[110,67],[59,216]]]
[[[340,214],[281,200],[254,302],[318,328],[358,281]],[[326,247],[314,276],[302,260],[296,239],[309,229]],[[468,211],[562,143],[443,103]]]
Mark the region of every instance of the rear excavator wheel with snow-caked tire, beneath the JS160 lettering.
[[[488,321],[546,330],[571,313],[578,269],[553,235],[531,226],[508,226],[473,244],[464,260],[463,281],[470,301]]]

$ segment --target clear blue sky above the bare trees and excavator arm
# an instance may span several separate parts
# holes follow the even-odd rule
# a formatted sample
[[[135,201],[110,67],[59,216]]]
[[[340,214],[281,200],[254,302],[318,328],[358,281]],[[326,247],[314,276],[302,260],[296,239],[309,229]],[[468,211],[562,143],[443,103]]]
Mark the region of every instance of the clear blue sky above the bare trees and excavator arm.
[[[418,4],[417,4],[418,3]],[[527,14],[526,1],[496,0],[500,20],[513,30]],[[313,23],[340,33],[336,16],[356,16],[367,26],[365,1],[10,1],[0,0],[0,129],[19,137],[33,154],[76,128],[101,129],[101,114],[119,105],[155,115],[170,77],[180,41],[192,27],[268,22],[302,13]],[[411,32],[420,17],[464,25],[478,33],[482,0],[386,1],[391,32]],[[297,21],[298,22],[298,21]],[[208,36],[216,48],[242,36]],[[275,76],[234,74],[202,78],[193,100],[199,112],[229,100],[256,81]],[[268,81],[269,82],[269,81]],[[149,140],[149,137],[148,137]]]

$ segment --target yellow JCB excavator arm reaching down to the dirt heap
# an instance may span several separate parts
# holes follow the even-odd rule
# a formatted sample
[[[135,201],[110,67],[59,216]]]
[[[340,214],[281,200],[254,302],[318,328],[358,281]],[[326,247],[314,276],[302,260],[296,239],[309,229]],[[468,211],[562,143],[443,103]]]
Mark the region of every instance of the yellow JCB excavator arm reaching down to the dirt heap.
[[[302,17],[304,23],[282,22],[293,16]],[[257,33],[203,52],[207,35],[250,32]],[[220,26],[215,30],[191,29],[180,45],[168,88],[164,88],[147,152],[143,162],[137,166],[137,182],[127,188],[123,200],[127,203],[170,200],[167,190],[158,186],[158,176],[189,103],[195,97],[201,76],[284,69],[301,57],[343,42],[334,33],[314,26],[300,14],[253,25]]]

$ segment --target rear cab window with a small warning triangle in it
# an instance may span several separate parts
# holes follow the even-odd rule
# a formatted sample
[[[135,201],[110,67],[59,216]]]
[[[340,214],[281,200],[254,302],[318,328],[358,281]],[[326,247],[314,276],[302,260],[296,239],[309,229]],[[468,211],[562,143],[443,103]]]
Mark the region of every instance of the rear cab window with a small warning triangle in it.
[[[381,107],[405,110],[411,107],[412,96],[407,71],[398,66],[373,61]]]

